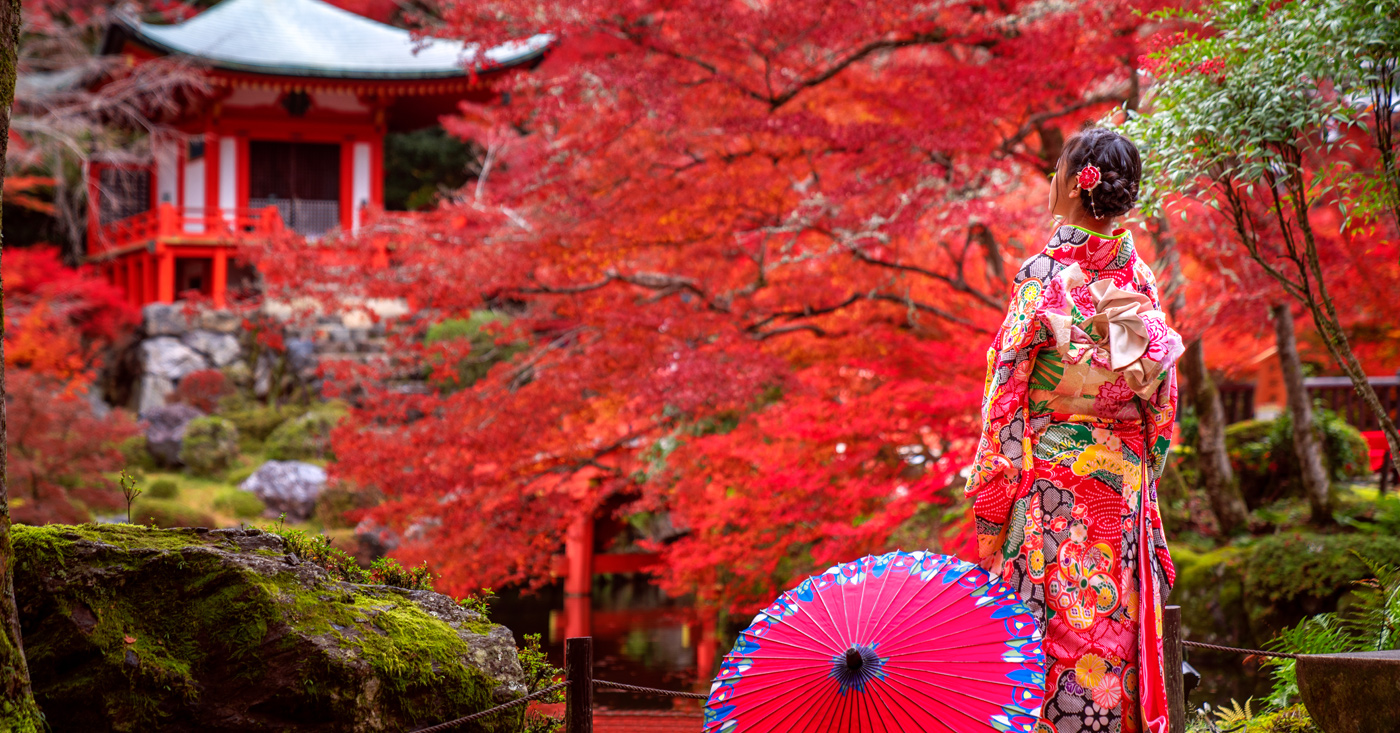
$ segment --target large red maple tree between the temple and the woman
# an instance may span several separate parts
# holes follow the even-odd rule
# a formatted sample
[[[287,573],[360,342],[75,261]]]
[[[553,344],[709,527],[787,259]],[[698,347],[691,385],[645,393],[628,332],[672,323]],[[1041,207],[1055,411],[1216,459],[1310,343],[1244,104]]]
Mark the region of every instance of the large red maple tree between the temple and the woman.
[[[385,491],[421,540],[399,554],[455,590],[547,579],[570,519],[619,498],[668,512],[662,581],[714,606],[883,550],[953,501],[1044,176],[1135,99],[1142,8],[449,3],[455,35],[559,39],[444,120],[480,178],[333,262],[281,242],[260,266],[273,294],[510,319],[475,354],[407,325],[385,369],[330,369],[357,403],[333,471]],[[384,379],[515,343],[465,389]]]

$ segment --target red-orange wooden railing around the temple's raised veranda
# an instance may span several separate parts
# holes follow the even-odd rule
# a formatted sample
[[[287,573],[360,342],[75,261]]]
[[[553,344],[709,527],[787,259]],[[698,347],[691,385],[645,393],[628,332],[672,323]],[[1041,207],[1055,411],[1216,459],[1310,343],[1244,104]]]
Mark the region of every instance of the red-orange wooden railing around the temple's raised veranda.
[[[213,242],[272,236],[286,229],[277,207],[202,208],[160,204],[98,227],[94,255],[127,249],[155,239],[200,239]]]

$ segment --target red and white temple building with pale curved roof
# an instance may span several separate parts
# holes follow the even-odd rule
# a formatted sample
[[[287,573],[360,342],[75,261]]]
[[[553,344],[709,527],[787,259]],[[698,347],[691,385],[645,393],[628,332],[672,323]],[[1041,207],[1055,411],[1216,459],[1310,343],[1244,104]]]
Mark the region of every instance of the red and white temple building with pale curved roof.
[[[482,50],[319,0],[224,0],[171,25],[123,18],[102,53],[188,57],[211,91],[151,136],[150,161],[92,165],[88,250],[133,305],[200,292],[223,306],[256,278],[239,243],[354,232],[384,207],[384,137],[434,124],[552,38]]]

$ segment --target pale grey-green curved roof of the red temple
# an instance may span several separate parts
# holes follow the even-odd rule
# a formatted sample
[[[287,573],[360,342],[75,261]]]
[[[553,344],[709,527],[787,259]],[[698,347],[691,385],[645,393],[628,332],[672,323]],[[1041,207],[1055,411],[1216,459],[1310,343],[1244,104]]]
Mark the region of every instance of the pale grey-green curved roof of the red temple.
[[[489,70],[539,57],[547,34],[484,52],[475,43],[413,39],[407,31],[375,22],[321,0],[223,0],[172,25],[123,18],[137,43],[165,53],[196,56],[216,69],[335,78],[442,78],[468,67]],[[118,43],[119,46],[119,43]],[[109,36],[108,50],[113,48]]]

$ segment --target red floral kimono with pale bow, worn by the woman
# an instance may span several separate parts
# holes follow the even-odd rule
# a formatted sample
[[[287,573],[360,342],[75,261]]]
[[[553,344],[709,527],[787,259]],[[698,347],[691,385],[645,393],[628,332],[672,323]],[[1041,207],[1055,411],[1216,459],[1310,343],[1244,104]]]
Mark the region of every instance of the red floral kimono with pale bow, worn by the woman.
[[[1156,483],[1182,339],[1127,231],[1060,227],[1016,274],[987,353],[967,484],[981,564],[1040,620],[1037,733],[1165,733]],[[1180,671],[1176,671],[1177,674]]]

